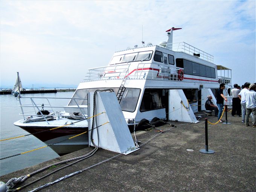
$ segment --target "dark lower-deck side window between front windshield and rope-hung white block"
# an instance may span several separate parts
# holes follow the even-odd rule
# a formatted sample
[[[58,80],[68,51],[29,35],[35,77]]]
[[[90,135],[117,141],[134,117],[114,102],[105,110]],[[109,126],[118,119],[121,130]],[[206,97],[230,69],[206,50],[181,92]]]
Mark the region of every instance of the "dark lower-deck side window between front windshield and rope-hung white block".
[[[140,111],[143,112],[165,108],[164,97],[163,89],[145,89],[140,105]]]

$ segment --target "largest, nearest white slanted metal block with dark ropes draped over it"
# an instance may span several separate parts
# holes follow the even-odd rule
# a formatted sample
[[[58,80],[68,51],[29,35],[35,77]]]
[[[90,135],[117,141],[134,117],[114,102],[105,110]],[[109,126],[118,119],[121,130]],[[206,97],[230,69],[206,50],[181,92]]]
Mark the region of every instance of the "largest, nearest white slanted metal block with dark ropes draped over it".
[[[123,154],[129,154],[139,149],[134,144],[114,92],[97,92],[95,101],[94,93],[88,93],[88,116],[90,117],[94,115],[94,105],[96,105],[96,111],[105,112],[96,119],[98,126],[105,124],[98,128],[98,135],[95,129],[96,121],[94,121],[92,128],[93,118],[88,119],[88,128],[89,130],[93,129],[92,139],[95,145],[98,145],[99,140],[99,148]],[[93,146],[91,131],[89,131],[89,145]]]

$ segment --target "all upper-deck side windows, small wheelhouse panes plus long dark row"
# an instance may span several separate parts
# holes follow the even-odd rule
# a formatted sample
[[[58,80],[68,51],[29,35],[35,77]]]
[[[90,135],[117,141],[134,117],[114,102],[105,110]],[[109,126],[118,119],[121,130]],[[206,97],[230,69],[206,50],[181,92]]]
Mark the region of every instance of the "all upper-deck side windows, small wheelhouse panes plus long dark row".
[[[155,51],[154,61],[163,62],[167,64],[167,57],[163,57],[163,53]],[[174,56],[168,54],[169,64],[174,65]],[[196,75],[208,78],[216,78],[215,69],[213,67],[205,66],[197,62],[186,59],[176,59],[176,67],[184,68],[184,74]]]

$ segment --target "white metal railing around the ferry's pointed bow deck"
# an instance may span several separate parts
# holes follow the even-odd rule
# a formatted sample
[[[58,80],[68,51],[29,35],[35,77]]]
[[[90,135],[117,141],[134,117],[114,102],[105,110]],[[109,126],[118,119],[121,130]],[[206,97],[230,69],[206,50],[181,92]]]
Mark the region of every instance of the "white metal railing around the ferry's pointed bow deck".
[[[35,117],[42,117],[43,120],[45,120],[48,124],[49,121],[47,120],[48,117],[57,117],[58,119],[60,117],[74,117],[72,115],[66,115],[65,113],[71,113],[70,111],[79,112],[79,116],[75,116],[78,118],[86,118],[88,117],[88,107],[87,105],[79,105],[76,100],[87,100],[87,98],[55,98],[55,97],[20,97],[20,107],[21,107],[21,113],[19,115],[23,116],[24,120],[32,120]],[[28,99],[25,103],[26,104],[21,104],[21,100]],[[70,101],[71,99],[75,102],[76,105],[72,106],[64,106],[64,105],[59,105],[59,106],[54,106],[51,105],[49,99],[55,100],[54,102],[56,103],[56,99],[62,99],[66,101]],[[40,104],[37,104],[38,100],[40,100]],[[45,101],[45,102],[44,102]],[[30,103],[31,102],[31,103]],[[63,102],[63,101],[62,101]],[[43,104],[43,105],[42,105]],[[26,109],[33,109],[27,111]],[[67,110],[68,109],[68,110]],[[26,110],[26,111],[25,111]],[[41,110],[47,110],[49,111],[50,114],[45,115],[42,113]],[[59,110],[59,111],[57,111]],[[38,113],[39,112],[39,113]]]

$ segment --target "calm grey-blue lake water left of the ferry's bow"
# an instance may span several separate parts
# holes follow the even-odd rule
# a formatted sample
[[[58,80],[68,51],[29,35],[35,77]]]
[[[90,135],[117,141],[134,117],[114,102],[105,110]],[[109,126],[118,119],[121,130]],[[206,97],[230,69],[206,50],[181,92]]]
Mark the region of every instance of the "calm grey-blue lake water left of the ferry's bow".
[[[23,94],[22,96],[71,98],[73,93],[73,91],[68,91],[57,93]],[[22,104],[31,104],[28,99],[24,99],[25,102],[23,102],[23,100],[21,101]],[[68,99],[53,99],[51,100],[51,105],[63,106],[67,105],[68,101]],[[0,95],[0,139],[28,134],[26,131],[13,124],[15,121],[23,119],[23,117],[19,115],[19,113],[21,113],[21,108],[19,105],[20,103],[17,98],[11,94]],[[2,141],[0,142],[0,158],[26,152],[45,145],[46,144],[32,135],[18,139]],[[5,175],[10,172],[36,165],[56,157],[59,157],[59,155],[56,154],[50,147],[46,147],[37,151],[0,160],[0,175]],[[22,175],[17,175],[17,177],[20,176]]]

